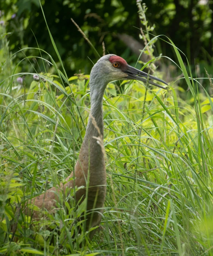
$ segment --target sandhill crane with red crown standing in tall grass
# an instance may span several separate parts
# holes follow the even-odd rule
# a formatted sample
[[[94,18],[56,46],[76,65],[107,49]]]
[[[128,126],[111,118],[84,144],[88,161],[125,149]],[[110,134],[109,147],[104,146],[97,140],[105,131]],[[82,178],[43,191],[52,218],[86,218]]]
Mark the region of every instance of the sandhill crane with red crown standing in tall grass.
[[[103,146],[104,121],[102,99],[104,90],[107,84],[114,80],[139,80],[147,83],[147,79],[143,77],[154,79],[167,85],[166,82],[154,76],[148,76],[147,73],[129,66],[123,58],[114,54],[105,55],[97,61],[90,73],[90,116],[74,172],[67,177],[66,184],[61,184],[60,188],[50,188],[44,194],[35,197],[32,204],[39,207],[39,209],[45,208],[47,211],[51,211],[56,207],[57,190],[65,191],[67,187],[73,188],[74,186],[86,187],[89,173],[87,200],[87,211],[89,214],[87,214],[86,229],[88,230],[90,227],[100,224],[107,185]],[[148,83],[165,89],[150,80],[148,80]],[[81,188],[76,192],[77,202],[81,198],[85,198],[85,193],[85,188]],[[40,213],[34,210],[32,217],[38,219]],[[92,239],[95,231],[90,232],[90,239]]]

